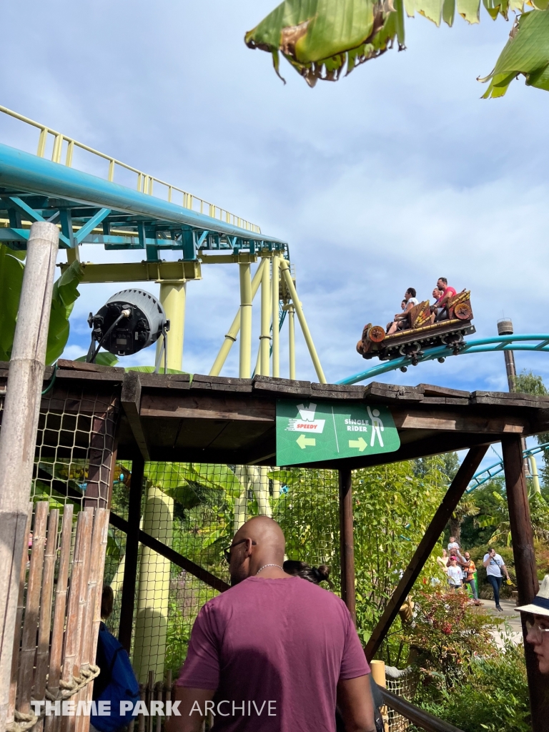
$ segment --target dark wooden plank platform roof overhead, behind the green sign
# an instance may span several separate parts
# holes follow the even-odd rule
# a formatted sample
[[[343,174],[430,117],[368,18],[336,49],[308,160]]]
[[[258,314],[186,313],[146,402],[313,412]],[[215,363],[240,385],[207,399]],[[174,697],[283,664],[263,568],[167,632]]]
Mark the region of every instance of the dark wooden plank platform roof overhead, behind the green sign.
[[[7,364],[0,363],[0,389]],[[51,378],[46,370],[46,381]],[[442,386],[343,386],[214,376],[164,376],[61,360],[43,399],[51,411],[85,412],[82,399],[119,395],[118,458],[195,463],[275,464],[277,399],[351,400],[384,404],[397,425],[397,452],[358,456],[324,466],[359,468],[498,442],[509,434],[549,430],[549,397],[507,392],[464,392]],[[1,397],[0,397],[1,398]],[[72,406],[71,406],[72,405]],[[67,434],[67,439],[70,434]],[[72,439],[72,438],[71,438]],[[310,467],[310,464],[309,464]]]

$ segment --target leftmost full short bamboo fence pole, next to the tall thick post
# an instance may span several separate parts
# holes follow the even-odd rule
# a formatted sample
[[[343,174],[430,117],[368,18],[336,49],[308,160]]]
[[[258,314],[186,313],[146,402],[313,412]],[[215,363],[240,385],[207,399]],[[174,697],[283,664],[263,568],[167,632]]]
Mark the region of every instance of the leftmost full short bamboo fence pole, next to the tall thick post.
[[[23,621],[23,638],[21,639],[19,662],[17,706],[19,712],[23,714],[29,714],[31,711],[31,690],[34,681],[34,657],[36,655],[38,616],[40,613],[47,520],[48,501],[40,501],[36,504],[36,513],[34,515],[29,586],[26,591],[25,620]]]

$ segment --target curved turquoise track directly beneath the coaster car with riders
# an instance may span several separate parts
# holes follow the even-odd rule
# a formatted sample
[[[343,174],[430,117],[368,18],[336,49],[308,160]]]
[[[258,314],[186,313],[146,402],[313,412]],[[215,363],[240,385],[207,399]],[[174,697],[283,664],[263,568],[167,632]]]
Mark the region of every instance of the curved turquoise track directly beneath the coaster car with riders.
[[[422,356],[417,356],[418,362],[438,361],[443,362],[448,356],[464,355],[464,354],[483,354],[493,353],[494,351],[539,351],[541,353],[549,353],[549,335],[545,334],[525,334],[525,335],[499,335],[492,338],[480,338],[479,340],[471,340],[463,343],[457,354],[454,353],[454,346],[437,346],[436,348],[427,348]],[[365,371],[342,378],[336,381],[336,384],[358,384],[359,381],[365,381],[367,378],[379,376],[387,371],[400,369],[406,371],[411,365],[411,359],[408,356],[402,356],[399,359],[382,362],[377,366],[373,366]]]

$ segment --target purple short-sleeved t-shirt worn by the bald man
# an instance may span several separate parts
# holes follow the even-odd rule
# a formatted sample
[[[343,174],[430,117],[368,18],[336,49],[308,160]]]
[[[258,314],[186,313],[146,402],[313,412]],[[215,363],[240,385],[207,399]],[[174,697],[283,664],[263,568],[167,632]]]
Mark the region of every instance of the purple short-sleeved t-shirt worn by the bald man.
[[[249,577],[198,613],[177,685],[217,690],[215,732],[334,732],[337,681],[365,673],[343,600],[299,577]]]

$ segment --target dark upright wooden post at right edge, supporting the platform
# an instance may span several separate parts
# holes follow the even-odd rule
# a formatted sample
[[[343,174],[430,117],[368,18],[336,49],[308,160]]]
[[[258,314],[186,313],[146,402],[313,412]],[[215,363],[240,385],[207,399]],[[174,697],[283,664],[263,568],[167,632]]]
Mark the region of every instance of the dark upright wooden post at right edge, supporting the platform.
[[[519,435],[505,437],[501,440],[503,452],[505,486],[507,504],[509,506],[509,523],[515,557],[515,573],[517,575],[518,603],[528,605],[539,589],[534,556],[534,535],[530,519],[528,490],[524,475],[522,440]],[[526,673],[530,690],[530,709],[532,729],[536,732],[549,730],[549,698],[547,681],[539,673],[537,657],[530,643],[526,643],[526,619],[520,613],[523,624],[524,655],[526,657]]]

